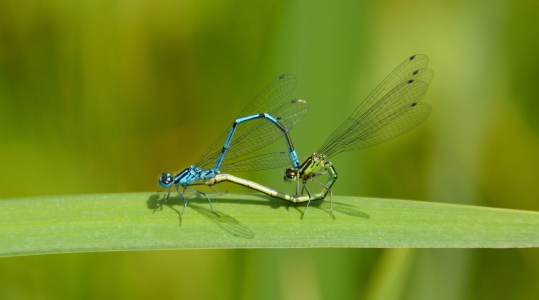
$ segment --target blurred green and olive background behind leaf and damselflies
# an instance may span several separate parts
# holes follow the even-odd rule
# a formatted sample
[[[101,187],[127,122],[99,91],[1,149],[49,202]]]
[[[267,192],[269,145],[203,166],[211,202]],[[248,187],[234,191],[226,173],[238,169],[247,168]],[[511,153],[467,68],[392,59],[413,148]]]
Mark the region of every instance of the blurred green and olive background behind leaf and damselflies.
[[[304,159],[422,53],[433,114],[333,159],[334,192],[537,211],[538,37],[524,0],[1,0],[0,197],[156,191],[283,73],[311,104],[292,131]],[[282,173],[237,175],[291,192]],[[0,270],[2,299],[539,298],[537,249],[89,253]]]

